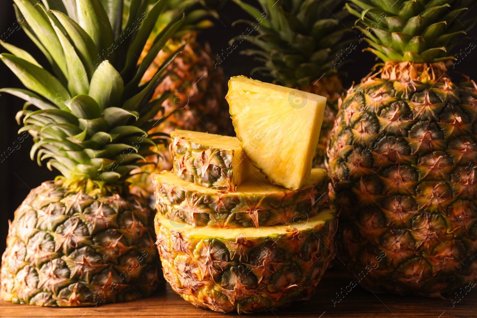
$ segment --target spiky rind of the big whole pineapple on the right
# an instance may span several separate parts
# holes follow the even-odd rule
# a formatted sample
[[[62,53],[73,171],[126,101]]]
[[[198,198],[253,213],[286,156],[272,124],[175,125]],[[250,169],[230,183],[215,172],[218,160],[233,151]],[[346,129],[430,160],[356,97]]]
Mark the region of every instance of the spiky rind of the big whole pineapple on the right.
[[[372,76],[348,91],[330,177],[339,249],[366,289],[441,297],[475,281],[476,88]]]

